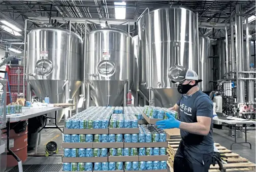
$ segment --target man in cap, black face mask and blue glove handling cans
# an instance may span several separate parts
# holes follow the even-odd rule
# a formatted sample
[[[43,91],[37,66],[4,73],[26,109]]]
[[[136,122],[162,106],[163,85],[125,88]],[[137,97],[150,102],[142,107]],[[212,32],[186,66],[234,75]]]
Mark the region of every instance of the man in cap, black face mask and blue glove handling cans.
[[[193,70],[181,71],[177,79],[178,92],[182,94],[170,110],[178,111],[180,121],[173,116],[156,122],[158,128],[180,128],[181,142],[174,157],[174,172],[208,172],[212,164],[213,139],[211,133],[213,104],[203,93],[198,75]]]

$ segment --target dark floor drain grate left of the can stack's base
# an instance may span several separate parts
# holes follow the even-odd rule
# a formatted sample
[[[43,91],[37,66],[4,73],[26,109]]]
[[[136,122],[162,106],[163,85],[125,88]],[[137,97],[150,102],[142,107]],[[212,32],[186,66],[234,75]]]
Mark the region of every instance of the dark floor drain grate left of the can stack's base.
[[[33,164],[33,165],[22,165],[23,172],[59,172],[62,164]],[[18,166],[15,166],[8,172],[19,172]]]

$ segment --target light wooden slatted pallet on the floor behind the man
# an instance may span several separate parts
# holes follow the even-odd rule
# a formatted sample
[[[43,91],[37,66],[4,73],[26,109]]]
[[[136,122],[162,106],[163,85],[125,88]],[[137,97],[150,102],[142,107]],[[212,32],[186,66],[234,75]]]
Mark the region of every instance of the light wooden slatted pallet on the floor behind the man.
[[[180,140],[181,138],[167,139],[167,154],[169,156],[169,162],[167,164],[169,165],[170,169],[173,168],[173,160],[179,147]],[[227,171],[255,171],[256,164],[250,162],[248,159],[241,157],[239,154],[233,153],[231,150],[228,150],[218,143],[214,143],[214,145],[219,150],[219,152],[225,154],[228,157],[228,163],[223,164],[223,167],[225,167]],[[211,165],[209,172],[219,171],[218,168],[218,164],[215,164],[215,166]]]

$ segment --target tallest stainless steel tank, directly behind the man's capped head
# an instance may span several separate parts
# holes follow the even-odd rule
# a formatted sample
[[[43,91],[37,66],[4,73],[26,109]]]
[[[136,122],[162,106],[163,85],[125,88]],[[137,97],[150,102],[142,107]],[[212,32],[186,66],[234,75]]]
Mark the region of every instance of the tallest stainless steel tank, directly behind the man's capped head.
[[[180,71],[190,68],[198,73],[197,30],[195,13],[183,6],[152,9],[149,15],[146,13],[140,18],[139,88],[149,99],[151,87],[156,106],[175,105],[180,94],[171,79]]]

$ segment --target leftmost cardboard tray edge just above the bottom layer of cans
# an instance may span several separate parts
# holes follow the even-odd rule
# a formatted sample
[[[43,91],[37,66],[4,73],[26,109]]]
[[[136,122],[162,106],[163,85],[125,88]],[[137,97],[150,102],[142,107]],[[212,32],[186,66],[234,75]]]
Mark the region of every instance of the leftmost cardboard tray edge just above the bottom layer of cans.
[[[62,157],[62,162],[108,162],[108,157]]]

